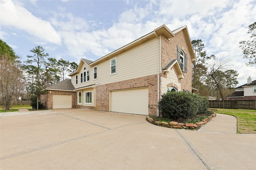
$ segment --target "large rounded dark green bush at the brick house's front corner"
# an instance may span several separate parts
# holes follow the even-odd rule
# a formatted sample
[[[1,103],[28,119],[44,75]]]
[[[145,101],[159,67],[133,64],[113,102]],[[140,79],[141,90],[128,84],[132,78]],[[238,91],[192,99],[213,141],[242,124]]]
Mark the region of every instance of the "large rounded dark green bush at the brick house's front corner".
[[[158,109],[170,119],[187,119],[208,110],[208,100],[192,93],[168,92],[161,96]]]

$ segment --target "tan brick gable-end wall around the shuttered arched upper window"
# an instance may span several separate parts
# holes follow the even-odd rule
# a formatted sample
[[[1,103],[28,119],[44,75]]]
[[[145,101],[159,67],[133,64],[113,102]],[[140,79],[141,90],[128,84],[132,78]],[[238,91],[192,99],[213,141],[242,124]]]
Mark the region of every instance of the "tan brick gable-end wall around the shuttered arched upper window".
[[[175,34],[174,38],[168,40],[164,36],[162,36],[162,67],[164,67],[170,60],[177,59],[177,45],[179,45],[180,49],[182,49],[185,53],[188,54],[188,73],[183,72],[184,79],[178,79],[178,83],[181,84],[181,89],[178,91],[188,90],[192,92],[192,58],[189,53],[188,44],[186,42],[186,38],[183,31],[180,31]],[[178,74],[176,73],[176,77]],[[162,77],[167,77],[165,73],[162,72]],[[175,83],[175,82],[165,82],[165,83]],[[177,85],[178,86],[178,85]],[[167,88],[167,87],[166,87]],[[164,91],[161,91],[161,94]]]

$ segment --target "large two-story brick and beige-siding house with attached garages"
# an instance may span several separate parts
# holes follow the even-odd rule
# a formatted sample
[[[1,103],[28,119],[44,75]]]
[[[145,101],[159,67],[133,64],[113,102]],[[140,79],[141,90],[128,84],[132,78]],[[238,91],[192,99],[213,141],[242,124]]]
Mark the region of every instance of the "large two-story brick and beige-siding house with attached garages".
[[[48,109],[85,108],[158,116],[167,91],[192,92],[196,61],[186,26],[162,25],[96,61],[81,59],[70,79],[46,90]]]

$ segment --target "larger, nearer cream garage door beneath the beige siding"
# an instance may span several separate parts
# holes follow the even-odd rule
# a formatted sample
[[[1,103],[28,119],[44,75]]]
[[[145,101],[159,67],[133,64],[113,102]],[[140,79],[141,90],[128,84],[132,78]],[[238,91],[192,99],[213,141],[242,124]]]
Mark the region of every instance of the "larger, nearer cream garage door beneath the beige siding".
[[[148,115],[148,88],[112,91],[111,111]]]

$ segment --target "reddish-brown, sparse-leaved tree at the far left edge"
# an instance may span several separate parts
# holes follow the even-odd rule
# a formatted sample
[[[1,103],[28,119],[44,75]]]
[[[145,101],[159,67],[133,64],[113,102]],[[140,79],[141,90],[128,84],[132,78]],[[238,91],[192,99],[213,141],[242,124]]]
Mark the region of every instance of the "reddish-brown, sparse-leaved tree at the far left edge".
[[[20,62],[10,57],[8,53],[1,55],[0,101],[4,103],[6,111],[24,90],[24,77],[19,64]]]

